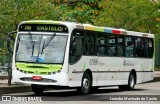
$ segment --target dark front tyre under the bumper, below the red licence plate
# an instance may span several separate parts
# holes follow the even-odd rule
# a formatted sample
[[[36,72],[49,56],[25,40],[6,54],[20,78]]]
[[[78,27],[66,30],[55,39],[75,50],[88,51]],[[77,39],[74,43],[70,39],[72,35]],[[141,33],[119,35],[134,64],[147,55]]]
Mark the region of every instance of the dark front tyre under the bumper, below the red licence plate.
[[[32,91],[36,94],[36,95],[42,95],[43,91],[44,91],[44,87],[40,86],[40,85],[31,85],[32,87]]]

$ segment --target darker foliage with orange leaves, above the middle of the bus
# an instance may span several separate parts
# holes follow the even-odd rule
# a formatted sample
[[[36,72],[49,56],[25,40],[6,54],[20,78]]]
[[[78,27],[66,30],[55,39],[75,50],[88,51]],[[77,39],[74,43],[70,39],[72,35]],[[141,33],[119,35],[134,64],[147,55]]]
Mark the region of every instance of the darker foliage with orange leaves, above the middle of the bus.
[[[58,20],[92,23],[92,19],[98,15],[98,10],[100,10],[98,3],[101,0],[69,0],[68,3],[63,3],[66,0],[54,1],[58,3],[58,5],[55,4],[55,9],[59,11]]]

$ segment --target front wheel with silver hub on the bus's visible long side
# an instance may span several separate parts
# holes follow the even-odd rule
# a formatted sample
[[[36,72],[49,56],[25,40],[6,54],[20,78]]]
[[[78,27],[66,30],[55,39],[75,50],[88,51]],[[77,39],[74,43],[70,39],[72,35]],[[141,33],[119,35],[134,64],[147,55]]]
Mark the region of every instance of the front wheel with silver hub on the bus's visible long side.
[[[81,94],[89,94],[90,90],[91,90],[91,78],[89,76],[88,73],[84,73],[83,77],[82,77],[82,82],[81,82],[81,88],[80,93]]]

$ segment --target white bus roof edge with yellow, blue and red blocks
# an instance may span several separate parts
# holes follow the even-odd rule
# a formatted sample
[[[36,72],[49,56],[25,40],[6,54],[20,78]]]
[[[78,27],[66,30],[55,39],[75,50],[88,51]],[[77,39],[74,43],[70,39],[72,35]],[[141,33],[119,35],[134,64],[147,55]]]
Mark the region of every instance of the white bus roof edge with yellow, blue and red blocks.
[[[128,31],[125,29],[118,29],[113,27],[100,27],[100,26],[93,26],[91,24],[81,24],[76,22],[67,22],[67,21],[52,21],[52,20],[29,20],[29,21],[23,21],[21,24],[59,24],[59,25],[66,25],[66,26],[72,26],[77,29],[84,29],[84,30],[90,30],[90,31],[99,31],[99,32],[105,32],[105,33],[112,33],[117,35],[131,35],[131,36],[140,36],[140,37],[151,37],[154,38],[153,34],[150,33],[143,33],[143,32],[135,32],[135,31]]]

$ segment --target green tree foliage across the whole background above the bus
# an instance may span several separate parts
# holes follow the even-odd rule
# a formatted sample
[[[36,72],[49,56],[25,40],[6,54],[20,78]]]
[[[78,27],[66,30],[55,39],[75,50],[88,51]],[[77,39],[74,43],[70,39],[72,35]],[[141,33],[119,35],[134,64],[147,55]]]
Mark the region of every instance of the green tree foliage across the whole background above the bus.
[[[93,23],[128,30],[158,33],[159,3],[148,0],[1,0],[0,30],[15,30],[24,20],[59,20]],[[64,2],[66,0],[61,0]],[[72,1],[72,0],[70,0]]]

